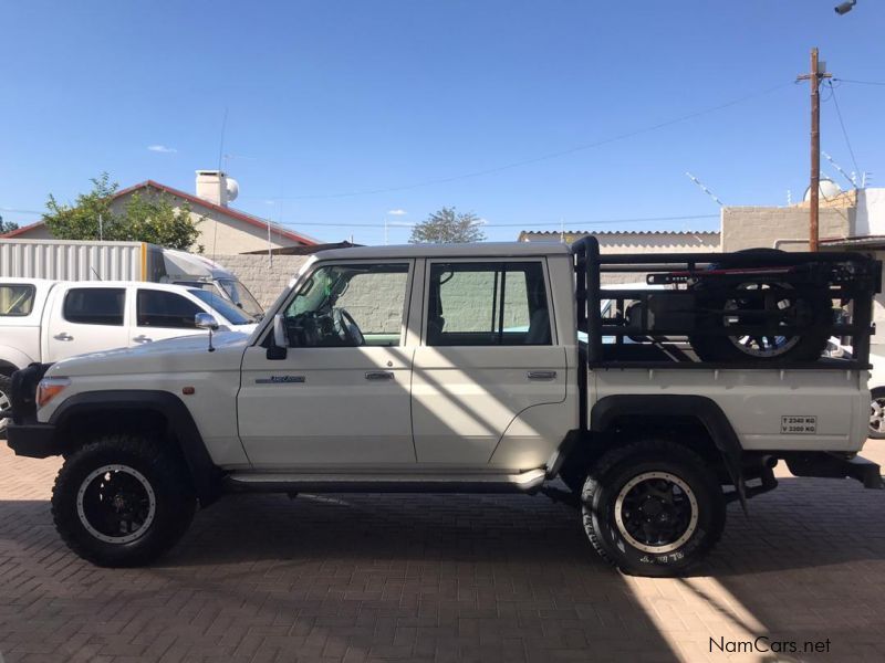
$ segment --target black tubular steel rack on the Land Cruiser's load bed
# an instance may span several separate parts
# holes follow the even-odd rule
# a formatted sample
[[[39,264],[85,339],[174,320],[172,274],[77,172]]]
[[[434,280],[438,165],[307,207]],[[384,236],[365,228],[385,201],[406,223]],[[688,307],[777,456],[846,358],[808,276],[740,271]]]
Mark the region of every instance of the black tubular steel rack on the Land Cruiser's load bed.
[[[581,382],[586,381],[586,371],[590,369],[620,369],[620,368],[678,368],[678,369],[764,369],[764,368],[796,368],[796,369],[860,369],[870,366],[870,337],[874,330],[873,298],[879,292],[882,264],[856,252],[816,252],[816,253],[788,253],[780,251],[750,251],[737,253],[660,253],[648,254],[600,254],[600,245],[595,238],[586,236],[577,240],[571,246],[574,256],[577,298],[577,326],[580,332],[587,335],[586,346],[582,344],[581,352]],[[675,283],[684,284],[683,290],[641,290],[625,285],[620,288],[612,285],[603,290],[602,278],[605,273],[616,273],[623,278],[624,273],[654,273],[649,274],[647,283]],[[658,301],[666,297],[665,306],[680,302],[675,308],[676,313],[686,314],[686,319],[691,319],[695,312],[699,312],[699,304],[695,299],[696,293],[687,290],[685,284],[710,281],[716,283],[737,284],[742,281],[780,278],[783,274],[801,276],[796,285],[787,286],[794,297],[818,296],[829,297],[840,302],[843,308],[850,307],[851,322],[832,320],[819,322],[810,327],[796,327],[784,324],[778,311],[741,311],[738,324],[716,327],[683,325],[657,326],[649,323],[647,304],[656,296]],[[679,285],[671,287],[678,288]],[[701,293],[704,291],[700,291]],[[742,299],[754,297],[771,297],[787,293],[783,286],[773,285],[768,290],[758,288],[741,291]],[[646,304],[642,308],[639,319],[603,320],[601,305],[603,301],[623,303],[626,299],[639,301]],[[685,305],[681,305],[685,302]],[[726,311],[709,309],[708,316],[727,315]],[[678,319],[678,318],[677,318]],[[748,320],[750,324],[748,324]],[[757,324],[757,320],[759,323]],[[611,324],[611,323],[615,324]],[[696,357],[674,359],[671,361],[631,359],[617,357],[617,352],[603,351],[605,337],[613,337],[621,345],[625,337],[670,337],[670,336],[789,336],[791,334],[814,332],[829,336],[851,337],[852,357],[827,361],[781,361],[771,359],[767,361],[722,361],[709,362],[698,360]],[[607,344],[606,344],[607,345]],[[613,356],[614,355],[614,356]],[[584,385],[584,387],[586,387]],[[583,403],[582,403],[583,404]]]

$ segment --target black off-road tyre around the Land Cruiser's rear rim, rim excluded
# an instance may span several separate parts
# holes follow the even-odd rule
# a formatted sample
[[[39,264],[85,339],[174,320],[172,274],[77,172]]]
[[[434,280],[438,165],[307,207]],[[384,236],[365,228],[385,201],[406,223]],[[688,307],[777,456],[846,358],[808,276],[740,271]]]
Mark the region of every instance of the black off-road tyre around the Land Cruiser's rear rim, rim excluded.
[[[697,503],[690,536],[666,554],[635,547],[622,534],[615,518],[618,494],[633,478],[649,472],[678,477]],[[659,578],[684,573],[716,545],[726,523],[722,487],[709,464],[689,449],[667,440],[644,440],[604,454],[590,470],[581,502],[584,529],[593,548],[608,564],[631,576]]]

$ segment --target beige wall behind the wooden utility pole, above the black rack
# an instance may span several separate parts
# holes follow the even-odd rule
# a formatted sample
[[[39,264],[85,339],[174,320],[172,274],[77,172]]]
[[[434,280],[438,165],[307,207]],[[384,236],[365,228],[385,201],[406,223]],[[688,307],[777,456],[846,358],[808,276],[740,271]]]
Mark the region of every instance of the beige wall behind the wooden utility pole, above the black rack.
[[[845,238],[854,228],[853,207],[822,207],[819,233],[822,240]],[[722,251],[759,246],[784,251],[808,251],[809,208],[727,207],[722,208]]]

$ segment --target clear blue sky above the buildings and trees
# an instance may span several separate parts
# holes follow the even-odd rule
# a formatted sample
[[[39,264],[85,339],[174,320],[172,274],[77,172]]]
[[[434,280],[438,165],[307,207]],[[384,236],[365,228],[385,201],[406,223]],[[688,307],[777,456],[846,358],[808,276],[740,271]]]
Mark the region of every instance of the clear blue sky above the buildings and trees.
[[[327,241],[379,243],[385,218],[441,206],[496,240],[561,222],[715,229],[687,170],[727,204],[804,190],[808,84],[791,82],[811,46],[836,77],[885,82],[885,2],[834,4],[4,2],[0,214],[35,221],[49,192],[73,199],[105,170],[192,191],[194,171],[218,165],[227,112],[236,207]],[[858,167],[884,185],[885,85],[836,85]],[[823,149],[854,170],[827,97]]]

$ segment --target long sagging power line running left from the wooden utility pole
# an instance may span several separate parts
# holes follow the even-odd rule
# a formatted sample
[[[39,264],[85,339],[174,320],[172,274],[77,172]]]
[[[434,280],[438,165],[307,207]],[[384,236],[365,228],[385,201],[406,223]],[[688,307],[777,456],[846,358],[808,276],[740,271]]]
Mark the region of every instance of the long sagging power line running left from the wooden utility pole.
[[[625,140],[627,138],[633,138],[634,136],[639,136],[642,134],[648,134],[650,131],[656,131],[657,129],[663,129],[663,128],[673,126],[675,124],[679,124],[679,123],[686,122],[688,119],[694,119],[694,118],[700,117],[702,115],[708,115],[710,113],[716,113],[717,110],[722,110],[725,108],[729,108],[731,106],[736,106],[738,104],[742,104],[743,102],[748,102],[750,99],[758,98],[758,97],[771,94],[772,92],[777,92],[778,90],[782,90],[782,88],[789,87],[791,85],[793,85],[792,81],[790,83],[783,83],[783,84],[780,84],[780,85],[774,85],[774,86],[769,87],[767,90],[763,90],[761,92],[756,92],[756,93],[752,93],[752,94],[748,94],[748,95],[738,97],[736,99],[731,99],[730,102],[726,102],[726,103],[719,104],[717,106],[710,106],[709,108],[704,108],[701,110],[696,110],[694,113],[688,113],[687,115],[680,115],[679,117],[674,117],[671,119],[659,122],[657,124],[654,124],[654,125],[650,125],[650,126],[647,126],[647,127],[643,127],[641,129],[634,129],[632,131],[626,131],[624,134],[618,134],[616,136],[611,136],[608,138],[603,138],[601,140],[594,141],[594,143],[587,143],[585,145],[577,145],[575,147],[570,147],[568,149],[563,149],[563,150],[559,150],[559,151],[554,151],[554,152],[548,152],[545,155],[531,157],[529,159],[522,159],[522,160],[519,160],[519,161],[511,161],[510,164],[503,164],[501,166],[496,166],[493,168],[487,168],[487,169],[483,169],[483,170],[475,170],[472,172],[465,172],[465,173],[461,173],[461,175],[454,175],[454,176],[450,176],[450,177],[425,180],[423,182],[415,182],[415,183],[410,183],[410,185],[402,185],[402,186],[397,186],[397,187],[385,187],[385,188],[379,188],[379,189],[367,189],[367,190],[364,190],[364,191],[350,191],[350,192],[340,192],[340,193],[314,193],[314,194],[303,194],[303,196],[288,196],[285,198],[280,198],[280,199],[274,199],[274,198],[270,198],[270,197],[267,197],[267,196],[253,196],[251,198],[263,198],[264,200],[308,200],[308,199],[327,199],[327,198],[352,198],[352,197],[356,197],[356,196],[372,196],[372,194],[375,194],[375,193],[391,193],[391,192],[395,192],[395,191],[407,191],[409,189],[418,189],[418,188],[421,188],[421,187],[430,187],[430,186],[434,186],[434,185],[445,185],[445,183],[449,183],[449,182],[454,182],[454,181],[458,181],[458,180],[471,179],[471,178],[476,178],[476,177],[482,177],[482,176],[486,176],[486,175],[493,175],[493,173],[497,173],[497,172],[501,172],[503,170],[510,170],[512,168],[519,168],[519,167],[522,167],[522,166],[530,166],[532,164],[538,164],[539,161],[546,161],[546,160],[550,160],[550,159],[556,159],[559,157],[565,157],[565,156],[569,156],[569,155],[572,155],[572,154],[575,154],[575,152],[579,152],[579,151],[584,151],[584,150],[587,150],[587,149],[593,149],[593,148],[596,148],[596,147],[601,147],[603,145],[608,145],[611,143],[616,143],[618,140]]]

